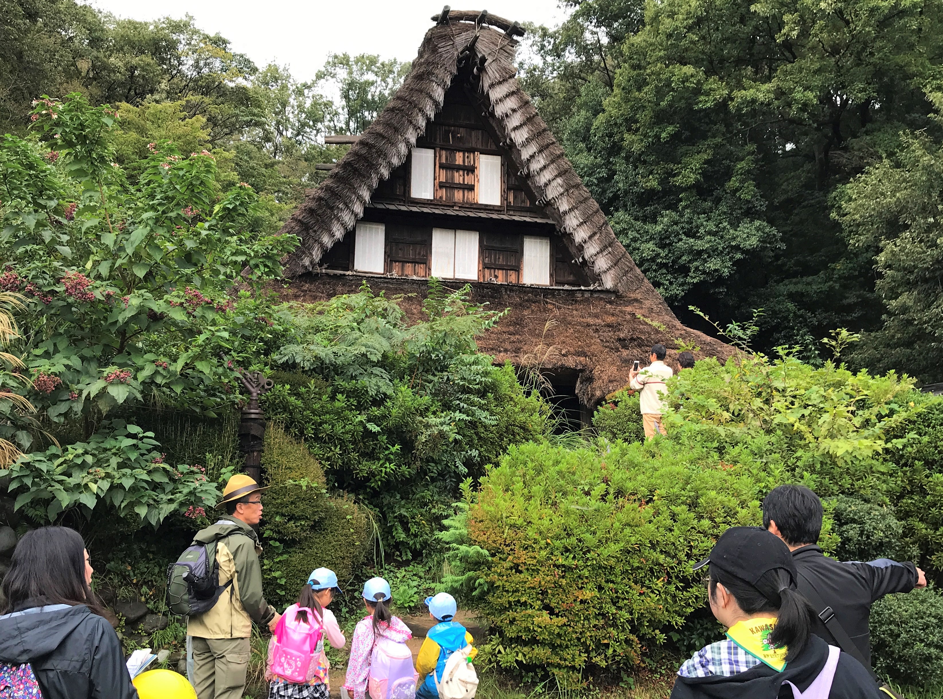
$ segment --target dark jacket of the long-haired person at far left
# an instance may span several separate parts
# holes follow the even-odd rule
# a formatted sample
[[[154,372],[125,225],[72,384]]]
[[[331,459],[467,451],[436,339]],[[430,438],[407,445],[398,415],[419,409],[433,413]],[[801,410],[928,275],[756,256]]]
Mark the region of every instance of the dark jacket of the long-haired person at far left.
[[[0,617],[0,662],[28,662],[43,699],[138,699],[111,624],[85,605],[57,607]]]

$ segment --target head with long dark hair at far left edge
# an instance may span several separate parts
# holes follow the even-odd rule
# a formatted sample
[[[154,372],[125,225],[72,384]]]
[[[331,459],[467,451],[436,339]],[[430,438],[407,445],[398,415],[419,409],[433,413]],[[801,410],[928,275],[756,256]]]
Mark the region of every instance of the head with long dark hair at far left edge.
[[[91,562],[74,529],[42,526],[23,535],[3,580],[0,613],[45,605],[87,605],[100,613],[91,593]]]

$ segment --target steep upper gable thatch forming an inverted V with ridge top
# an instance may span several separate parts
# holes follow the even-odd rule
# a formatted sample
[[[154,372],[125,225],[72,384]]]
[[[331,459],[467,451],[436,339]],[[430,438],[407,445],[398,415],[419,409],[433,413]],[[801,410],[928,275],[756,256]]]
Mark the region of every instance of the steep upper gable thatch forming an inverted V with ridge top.
[[[489,117],[517,166],[562,235],[581,251],[604,288],[651,298],[659,315],[674,318],[661,296],[617,240],[604,213],[573,171],[563,149],[516,77],[517,41],[510,31],[464,21],[478,12],[454,11],[426,32],[403,86],[323,184],[282,229],[302,244],[286,260],[285,275],[310,272],[323,254],[363,215],[377,184],[405,162],[426,123],[442,107],[459,62],[479,66],[480,92]],[[456,21],[457,20],[457,21]],[[503,22],[492,24],[505,26]],[[475,41],[475,37],[477,40]],[[481,67],[481,63],[484,66]]]

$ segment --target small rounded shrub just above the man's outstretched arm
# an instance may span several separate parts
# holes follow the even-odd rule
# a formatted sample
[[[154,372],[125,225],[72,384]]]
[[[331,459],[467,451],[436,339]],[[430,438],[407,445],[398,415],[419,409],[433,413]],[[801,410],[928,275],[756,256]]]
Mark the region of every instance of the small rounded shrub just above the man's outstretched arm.
[[[893,508],[873,505],[852,497],[835,498],[832,510],[835,534],[840,541],[835,549],[839,560],[913,558],[912,547],[903,541],[903,524]]]

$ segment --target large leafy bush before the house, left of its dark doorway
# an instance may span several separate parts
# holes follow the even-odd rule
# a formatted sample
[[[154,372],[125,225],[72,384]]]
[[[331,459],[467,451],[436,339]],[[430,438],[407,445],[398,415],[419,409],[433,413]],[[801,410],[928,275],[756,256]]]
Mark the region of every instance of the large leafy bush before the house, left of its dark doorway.
[[[502,314],[472,305],[468,293],[433,280],[428,320],[415,325],[396,299],[366,285],[294,308],[299,341],[276,356],[286,371],[273,374],[262,401],[306,441],[332,490],[372,508],[401,558],[435,545],[463,478],[549,430],[538,394],[477,353],[475,336]]]

